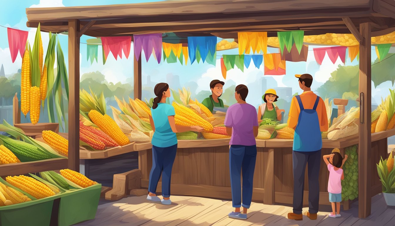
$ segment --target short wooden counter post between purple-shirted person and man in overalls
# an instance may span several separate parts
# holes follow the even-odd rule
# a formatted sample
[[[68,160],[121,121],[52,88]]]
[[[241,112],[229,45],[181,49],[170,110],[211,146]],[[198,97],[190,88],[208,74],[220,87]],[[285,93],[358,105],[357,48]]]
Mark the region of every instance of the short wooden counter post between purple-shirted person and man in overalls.
[[[263,203],[271,205],[275,203],[275,190],[274,190],[274,149],[269,148],[267,159],[267,166],[265,169],[265,188],[263,194]]]

